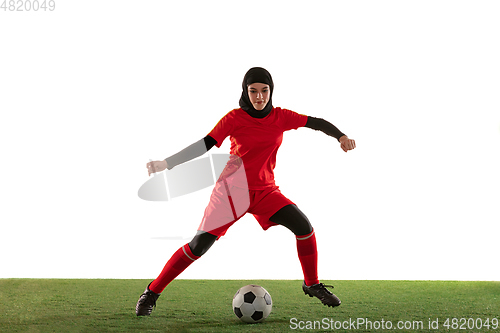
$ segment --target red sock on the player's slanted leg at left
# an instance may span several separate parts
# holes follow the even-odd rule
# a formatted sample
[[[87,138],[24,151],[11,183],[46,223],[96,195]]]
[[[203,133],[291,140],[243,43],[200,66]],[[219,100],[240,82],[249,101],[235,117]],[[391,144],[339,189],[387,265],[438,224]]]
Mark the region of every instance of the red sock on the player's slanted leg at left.
[[[182,246],[174,253],[165,267],[163,267],[163,270],[160,275],[158,275],[156,280],[151,282],[149,290],[160,294],[173,279],[179,276],[179,274],[181,274],[198,258],[200,257],[195,256],[191,252],[188,244]]]

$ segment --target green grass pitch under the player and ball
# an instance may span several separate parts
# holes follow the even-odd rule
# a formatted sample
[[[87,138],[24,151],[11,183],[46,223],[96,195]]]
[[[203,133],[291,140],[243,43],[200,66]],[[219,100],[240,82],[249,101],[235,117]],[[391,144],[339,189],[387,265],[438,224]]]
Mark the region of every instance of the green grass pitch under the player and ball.
[[[500,282],[323,281],[335,285],[342,300],[328,308],[302,293],[301,281],[175,280],[150,317],[136,317],[135,304],[147,280],[0,279],[0,332],[297,332],[290,319],[422,321],[424,329],[400,332],[494,332],[447,330],[446,318],[499,318]],[[232,313],[236,290],[265,287],[273,311],[265,322],[245,324]],[[439,330],[428,322],[439,318]],[[450,322],[451,324],[451,322]],[[326,331],[334,331],[328,327]],[[351,326],[352,328],[352,326]],[[338,330],[382,332],[382,329]]]

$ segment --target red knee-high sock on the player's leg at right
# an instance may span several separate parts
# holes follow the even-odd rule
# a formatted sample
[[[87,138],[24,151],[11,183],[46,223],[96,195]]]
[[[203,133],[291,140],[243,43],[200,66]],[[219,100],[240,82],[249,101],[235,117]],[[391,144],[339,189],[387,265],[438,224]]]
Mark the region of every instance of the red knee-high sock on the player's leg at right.
[[[319,283],[318,251],[314,230],[310,234],[295,237],[297,238],[297,253],[302,265],[302,272],[304,272],[304,281],[308,286],[317,284]]]

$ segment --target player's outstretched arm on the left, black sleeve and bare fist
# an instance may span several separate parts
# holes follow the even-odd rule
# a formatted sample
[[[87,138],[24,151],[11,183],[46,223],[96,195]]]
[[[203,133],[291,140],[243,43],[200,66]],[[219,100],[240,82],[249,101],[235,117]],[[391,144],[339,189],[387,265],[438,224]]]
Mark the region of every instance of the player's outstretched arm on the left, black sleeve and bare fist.
[[[165,169],[172,169],[176,165],[185,163],[190,161],[196,157],[199,157],[205,154],[207,151],[212,149],[213,146],[217,144],[217,141],[212,138],[210,135],[207,135],[201,140],[196,141],[192,145],[184,148],[180,152],[162,161],[152,161],[146,164],[146,168],[148,169],[148,175],[151,175],[155,172],[161,172]]]

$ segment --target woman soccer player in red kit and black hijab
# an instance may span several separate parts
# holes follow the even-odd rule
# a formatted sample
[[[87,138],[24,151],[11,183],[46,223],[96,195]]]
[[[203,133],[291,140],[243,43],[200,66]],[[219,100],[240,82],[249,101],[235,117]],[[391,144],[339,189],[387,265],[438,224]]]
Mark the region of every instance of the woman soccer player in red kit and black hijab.
[[[313,227],[299,208],[280,192],[274,181],[273,170],[284,131],[299,127],[322,131],[335,137],[345,152],[354,149],[356,144],[326,120],[273,107],[274,84],[271,74],[264,68],[251,68],[243,79],[242,88],[240,108],[226,114],[205,138],[163,161],[153,161],[146,165],[149,175],[165,169],[170,170],[176,165],[201,156],[213,146],[219,148],[229,136],[231,156],[240,158],[243,164],[248,186],[245,190],[248,203],[243,205],[246,209],[243,212],[241,204],[235,209],[239,200],[236,193],[240,190],[236,184],[237,180],[231,189],[225,178],[216,184],[198,232],[189,243],[173,254],[160,275],[140,296],[136,305],[138,316],[150,315],[165,287],[199,259],[216,239],[224,235],[227,229],[247,212],[257,219],[264,230],[274,225],[283,225],[295,234],[297,253],[304,273],[302,290],[306,295],[315,296],[328,306],[338,306],[341,303],[337,296],[319,282],[318,253]],[[241,165],[237,161],[233,164],[237,165],[236,169]],[[237,174],[232,172],[233,175]],[[231,209],[227,208],[228,205],[224,207],[224,204],[221,204],[224,200],[230,203]],[[225,210],[232,214],[224,212]],[[234,215],[234,218],[227,219],[228,214]]]

